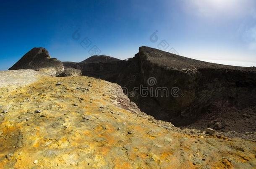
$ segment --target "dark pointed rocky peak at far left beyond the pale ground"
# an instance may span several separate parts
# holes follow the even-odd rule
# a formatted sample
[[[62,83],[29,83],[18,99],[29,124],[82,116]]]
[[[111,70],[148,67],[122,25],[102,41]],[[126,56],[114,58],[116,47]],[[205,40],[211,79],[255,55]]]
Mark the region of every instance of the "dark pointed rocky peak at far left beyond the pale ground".
[[[48,51],[42,47],[31,49],[17,63],[9,68],[9,70],[38,70],[42,68],[52,68],[56,75],[59,75],[64,70],[63,63],[61,61],[57,61],[57,58],[51,58]]]

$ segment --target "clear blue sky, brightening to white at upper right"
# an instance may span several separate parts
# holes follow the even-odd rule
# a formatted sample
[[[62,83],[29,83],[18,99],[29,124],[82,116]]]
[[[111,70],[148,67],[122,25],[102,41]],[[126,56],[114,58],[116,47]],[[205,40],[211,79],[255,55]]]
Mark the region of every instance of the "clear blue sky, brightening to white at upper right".
[[[95,53],[131,58],[142,45],[256,66],[256,1],[0,1],[0,70],[33,47],[60,61],[83,61]]]

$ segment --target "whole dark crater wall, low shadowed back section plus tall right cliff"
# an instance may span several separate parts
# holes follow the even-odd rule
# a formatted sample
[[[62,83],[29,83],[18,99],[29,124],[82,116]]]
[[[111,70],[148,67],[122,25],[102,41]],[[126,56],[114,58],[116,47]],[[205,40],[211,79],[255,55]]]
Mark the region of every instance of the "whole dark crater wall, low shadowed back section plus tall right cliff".
[[[221,121],[219,129],[233,129],[225,125],[222,115],[216,116],[232,107],[236,115],[229,112],[228,116],[238,119],[249,108],[251,118],[243,123],[255,129],[256,68],[207,63],[145,46],[126,61],[64,66],[118,83],[142,111],[177,126],[204,121],[201,127],[205,128],[211,121]],[[237,126],[238,131],[242,128]]]

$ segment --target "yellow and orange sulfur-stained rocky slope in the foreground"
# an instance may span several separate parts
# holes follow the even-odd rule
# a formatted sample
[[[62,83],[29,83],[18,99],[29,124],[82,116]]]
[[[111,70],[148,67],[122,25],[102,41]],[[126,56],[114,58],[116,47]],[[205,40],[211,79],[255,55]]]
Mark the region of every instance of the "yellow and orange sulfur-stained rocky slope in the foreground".
[[[0,168],[256,168],[256,142],[156,121],[117,84],[37,78],[0,88]]]

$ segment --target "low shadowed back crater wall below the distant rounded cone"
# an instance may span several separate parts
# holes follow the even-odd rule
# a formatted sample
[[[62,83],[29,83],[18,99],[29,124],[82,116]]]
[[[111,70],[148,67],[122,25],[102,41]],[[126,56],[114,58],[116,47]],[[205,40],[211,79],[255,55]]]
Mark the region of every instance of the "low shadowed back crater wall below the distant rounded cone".
[[[131,58],[129,60],[98,62],[96,63],[75,63],[63,62],[66,68],[75,68],[81,70],[83,76],[91,76],[101,78],[110,82],[120,84],[122,87],[133,88],[138,86],[139,76],[141,70],[139,67],[138,58]]]

